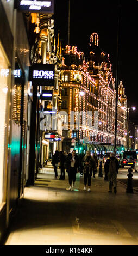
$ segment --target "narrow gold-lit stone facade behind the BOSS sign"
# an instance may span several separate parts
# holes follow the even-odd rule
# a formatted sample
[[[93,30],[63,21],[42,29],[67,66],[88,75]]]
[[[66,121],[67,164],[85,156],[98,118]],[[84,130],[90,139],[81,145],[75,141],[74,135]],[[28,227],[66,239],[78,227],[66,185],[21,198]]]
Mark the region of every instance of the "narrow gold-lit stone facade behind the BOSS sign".
[[[32,144],[34,144],[34,137],[36,140],[36,149],[33,159],[30,161],[30,169],[35,168],[35,173],[38,172],[39,168],[42,168],[46,164],[46,160],[52,159],[55,150],[62,150],[62,118],[59,114],[61,109],[61,83],[60,83],[60,66],[61,66],[61,41],[59,38],[56,40],[54,36],[54,20],[52,14],[35,14],[32,13],[29,19],[35,26],[34,32],[36,34],[35,44],[33,45],[33,51],[31,54],[32,63],[54,65],[54,85],[43,86],[40,83],[39,89],[35,92],[34,103],[37,97],[37,106],[40,113],[37,119],[37,132],[32,136]],[[52,92],[52,99],[42,99],[42,92]],[[39,96],[37,96],[39,95]],[[55,117],[51,117],[51,127],[46,127],[46,115],[43,114],[47,111],[56,112]],[[33,116],[36,114],[36,107],[34,113],[32,113],[32,130],[34,130]],[[37,114],[38,115],[38,114]],[[41,129],[40,124],[46,120],[44,127]],[[49,139],[48,137],[52,133],[54,138]],[[34,146],[33,146],[34,147]],[[34,158],[37,159],[37,164],[34,164]],[[32,171],[34,173],[34,171]],[[33,177],[31,176],[31,179]]]

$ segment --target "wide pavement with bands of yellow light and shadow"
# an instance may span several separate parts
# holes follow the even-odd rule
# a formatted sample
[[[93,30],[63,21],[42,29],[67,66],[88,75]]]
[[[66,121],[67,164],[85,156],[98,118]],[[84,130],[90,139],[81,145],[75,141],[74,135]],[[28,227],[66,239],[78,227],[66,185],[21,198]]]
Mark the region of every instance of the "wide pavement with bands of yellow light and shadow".
[[[56,180],[50,164],[41,169],[35,186],[24,189],[5,245],[138,245],[136,191],[126,193],[117,182],[117,194],[108,193],[108,181],[98,173],[91,192],[83,191],[79,174],[75,190],[68,187],[67,173]]]

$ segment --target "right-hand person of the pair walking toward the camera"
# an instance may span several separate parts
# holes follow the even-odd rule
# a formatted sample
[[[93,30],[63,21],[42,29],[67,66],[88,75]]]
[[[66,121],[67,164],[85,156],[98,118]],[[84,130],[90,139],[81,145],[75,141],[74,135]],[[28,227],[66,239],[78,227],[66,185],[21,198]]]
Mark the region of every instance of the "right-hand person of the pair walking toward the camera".
[[[87,150],[86,156],[84,157],[84,163],[83,163],[83,174],[84,174],[84,190],[86,190],[86,185],[88,184],[88,190],[91,191],[91,176],[92,171],[96,170],[96,161],[91,156],[91,152]]]

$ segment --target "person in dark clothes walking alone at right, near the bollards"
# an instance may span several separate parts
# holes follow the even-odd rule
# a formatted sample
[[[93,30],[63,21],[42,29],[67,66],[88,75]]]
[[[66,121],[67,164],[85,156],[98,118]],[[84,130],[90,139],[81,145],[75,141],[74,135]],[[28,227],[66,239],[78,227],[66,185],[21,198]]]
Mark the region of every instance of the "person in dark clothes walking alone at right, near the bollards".
[[[112,192],[112,185],[114,193],[117,192],[117,174],[120,168],[118,160],[114,157],[114,153],[110,153],[110,159],[107,159],[104,164],[104,172],[108,175],[109,192]]]

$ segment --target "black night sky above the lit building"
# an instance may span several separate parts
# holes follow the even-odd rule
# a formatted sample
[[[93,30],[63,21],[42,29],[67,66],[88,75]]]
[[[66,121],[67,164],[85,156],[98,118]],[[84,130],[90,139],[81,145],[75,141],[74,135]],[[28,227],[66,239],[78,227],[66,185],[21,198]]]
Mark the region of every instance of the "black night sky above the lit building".
[[[122,0],[119,80],[126,89],[128,106],[136,106],[130,115],[138,115],[138,1]],[[118,0],[70,0],[70,45],[77,46],[87,56],[87,45],[93,32],[99,35],[99,47],[109,53],[116,76]],[[55,34],[60,31],[62,47],[68,40],[68,0],[55,0]],[[87,60],[87,59],[86,59]],[[137,122],[136,122],[137,123]]]

